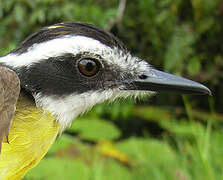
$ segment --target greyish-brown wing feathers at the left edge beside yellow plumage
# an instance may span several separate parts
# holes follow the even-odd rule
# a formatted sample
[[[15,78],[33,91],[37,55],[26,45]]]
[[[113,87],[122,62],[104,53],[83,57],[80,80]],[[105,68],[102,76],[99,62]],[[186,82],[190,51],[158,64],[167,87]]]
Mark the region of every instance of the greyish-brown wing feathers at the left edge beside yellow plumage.
[[[0,66],[0,151],[3,138],[6,137],[8,141],[19,93],[20,80],[17,74]]]

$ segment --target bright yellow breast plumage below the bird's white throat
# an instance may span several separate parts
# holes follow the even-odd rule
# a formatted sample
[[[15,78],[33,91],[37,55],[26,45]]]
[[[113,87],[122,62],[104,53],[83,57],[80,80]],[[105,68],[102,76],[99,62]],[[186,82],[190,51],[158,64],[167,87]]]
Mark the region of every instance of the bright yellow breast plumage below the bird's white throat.
[[[48,111],[36,108],[21,93],[16,114],[0,154],[0,179],[19,180],[47,153],[59,132],[59,125]]]

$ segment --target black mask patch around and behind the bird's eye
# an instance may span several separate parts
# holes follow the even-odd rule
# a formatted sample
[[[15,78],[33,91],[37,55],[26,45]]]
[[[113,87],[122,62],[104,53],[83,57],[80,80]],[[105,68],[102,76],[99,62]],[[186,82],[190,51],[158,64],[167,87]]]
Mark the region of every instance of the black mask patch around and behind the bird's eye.
[[[90,59],[96,64],[95,67],[99,67],[95,75],[86,76],[79,71],[78,63],[83,59]],[[92,67],[87,69],[92,71]],[[110,72],[110,69],[100,56],[81,53],[50,57],[29,66],[28,69],[24,66],[15,71],[19,75],[22,88],[29,93],[68,95],[99,90],[106,80],[104,72]]]

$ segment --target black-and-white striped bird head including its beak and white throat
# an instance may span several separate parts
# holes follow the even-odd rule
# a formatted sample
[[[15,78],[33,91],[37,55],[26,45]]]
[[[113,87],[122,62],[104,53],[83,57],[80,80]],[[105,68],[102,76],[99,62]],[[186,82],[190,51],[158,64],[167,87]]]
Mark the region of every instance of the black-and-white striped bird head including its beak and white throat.
[[[210,94],[199,83],[154,69],[111,33],[85,23],[42,28],[0,61],[63,128],[106,100],[159,91]]]

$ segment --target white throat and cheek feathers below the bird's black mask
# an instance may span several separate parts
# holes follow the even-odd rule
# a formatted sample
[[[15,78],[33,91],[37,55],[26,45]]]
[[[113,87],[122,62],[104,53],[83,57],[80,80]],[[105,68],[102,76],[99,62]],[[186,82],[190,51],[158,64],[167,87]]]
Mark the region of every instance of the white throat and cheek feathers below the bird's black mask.
[[[143,91],[120,91],[111,89],[106,91],[89,91],[82,94],[71,94],[65,97],[34,95],[36,105],[39,108],[50,111],[56,121],[60,123],[63,131],[80,114],[90,110],[94,105],[104,101],[114,101],[117,98],[132,96],[136,98],[142,94],[152,94]]]

